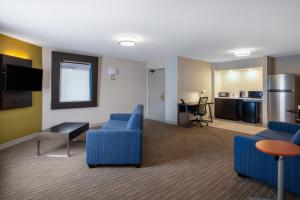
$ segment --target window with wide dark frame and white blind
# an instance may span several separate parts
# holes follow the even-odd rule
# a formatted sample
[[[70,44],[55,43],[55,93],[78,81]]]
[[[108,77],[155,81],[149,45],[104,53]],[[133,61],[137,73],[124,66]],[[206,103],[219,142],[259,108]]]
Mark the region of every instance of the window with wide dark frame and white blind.
[[[52,109],[97,106],[98,58],[52,52]]]

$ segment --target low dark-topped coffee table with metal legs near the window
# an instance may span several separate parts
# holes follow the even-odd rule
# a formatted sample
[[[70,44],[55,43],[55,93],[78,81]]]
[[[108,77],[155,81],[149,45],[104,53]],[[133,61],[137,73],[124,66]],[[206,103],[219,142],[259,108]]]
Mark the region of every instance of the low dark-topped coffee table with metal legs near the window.
[[[54,139],[65,140],[67,143],[67,157],[70,157],[70,140],[89,130],[89,123],[85,122],[64,122],[43,130],[37,137],[37,155],[40,156],[41,140]]]

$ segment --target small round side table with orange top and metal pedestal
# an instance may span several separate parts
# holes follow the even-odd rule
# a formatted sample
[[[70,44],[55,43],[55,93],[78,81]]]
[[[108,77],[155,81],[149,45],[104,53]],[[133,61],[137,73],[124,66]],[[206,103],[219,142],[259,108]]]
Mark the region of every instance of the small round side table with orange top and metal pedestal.
[[[261,140],[256,142],[256,148],[278,157],[277,200],[283,200],[284,192],[284,157],[300,155],[300,147],[296,144],[279,140]]]

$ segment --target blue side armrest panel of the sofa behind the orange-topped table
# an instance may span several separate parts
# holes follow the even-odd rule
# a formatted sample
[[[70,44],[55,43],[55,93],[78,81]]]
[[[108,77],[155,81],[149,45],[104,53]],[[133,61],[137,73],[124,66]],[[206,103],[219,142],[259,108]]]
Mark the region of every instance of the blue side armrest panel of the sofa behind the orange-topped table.
[[[263,138],[234,137],[234,170],[273,186],[277,184],[278,162],[274,156],[256,149],[255,143]],[[300,194],[300,156],[284,159],[285,189]]]

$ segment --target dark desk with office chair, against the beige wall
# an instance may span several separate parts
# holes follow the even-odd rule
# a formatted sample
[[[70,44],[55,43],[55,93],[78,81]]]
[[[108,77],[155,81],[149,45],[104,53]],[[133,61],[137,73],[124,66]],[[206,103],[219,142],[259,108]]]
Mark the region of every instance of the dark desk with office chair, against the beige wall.
[[[211,105],[214,104],[213,102],[207,102],[206,106],[208,107],[208,113],[209,113],[209,120],[204,120],[207,122],[213,122],[213,116],[212,116],[212,111],[211,111]],[[188,102],[188,103],[178,103],[178,108],[177,108],[177,124],[178,125],[182,125],[180,124],[180,113],[185,113],[186,114],[186,123],[183,124],[184,126],[187,126],[190,118],[189,118],[189,113],[191,111],[195,111],[198,108],[198,102]]]

